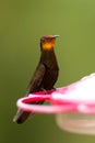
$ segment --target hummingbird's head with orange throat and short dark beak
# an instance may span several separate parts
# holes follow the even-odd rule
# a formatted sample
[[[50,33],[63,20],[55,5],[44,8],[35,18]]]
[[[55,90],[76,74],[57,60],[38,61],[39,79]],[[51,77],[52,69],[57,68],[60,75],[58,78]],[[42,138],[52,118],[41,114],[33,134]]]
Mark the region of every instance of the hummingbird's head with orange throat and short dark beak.
[[[56,37],[59,35],[47,35],[40,38],[40,48],[44,51],[50,51],[55,47]]]

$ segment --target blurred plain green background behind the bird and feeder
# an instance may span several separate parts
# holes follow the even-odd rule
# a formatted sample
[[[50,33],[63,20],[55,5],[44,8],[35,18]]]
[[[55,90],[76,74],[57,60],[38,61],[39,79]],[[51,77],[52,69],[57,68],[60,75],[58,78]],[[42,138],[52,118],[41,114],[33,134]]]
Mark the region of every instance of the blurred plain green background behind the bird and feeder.
[[[12,121],[38,63],[39,38],[48,34],[60,35],[56,87],[95,72],[95,0],[0,1],[0,143],[95,142],[61,131],[55,116],[36,114],[22,125]]]

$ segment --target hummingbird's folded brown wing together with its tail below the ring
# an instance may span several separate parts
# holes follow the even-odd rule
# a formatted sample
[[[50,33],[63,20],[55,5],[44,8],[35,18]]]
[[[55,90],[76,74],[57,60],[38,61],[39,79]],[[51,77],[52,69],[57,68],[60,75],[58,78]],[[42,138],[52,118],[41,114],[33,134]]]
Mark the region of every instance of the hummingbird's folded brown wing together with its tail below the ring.
[[[46,72],[46,67],[44,64],[39,64],[38,67],[36,68],[36,72],[34,73],[34,76],[28,85],[28,91],[26,94],[26,96],[28,96],[28,94],[31,92],[36,92],[40,90],[40,86],[41,86],[41,81],[44,78]],[[43,103],[44,101],[38,101],[36,103]],[[35,103],[35,102],[31,102],[31,103]],[[29,112],[25,112],[21,109],[19,109],[16,116],[14,117],[13,121],[17,122],[17,123],[23,123],[27,117],[29,116]]]

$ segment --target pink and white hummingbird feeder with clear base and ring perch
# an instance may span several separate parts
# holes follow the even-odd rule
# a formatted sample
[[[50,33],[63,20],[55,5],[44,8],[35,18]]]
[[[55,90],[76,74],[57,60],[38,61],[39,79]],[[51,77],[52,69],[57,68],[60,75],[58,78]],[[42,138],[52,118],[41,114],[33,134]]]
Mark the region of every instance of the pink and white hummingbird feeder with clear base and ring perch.
[[[31,105],[34,101],[50,105]],[[62,130],[95,134],[95,74],[83,77],[69,86],[28,95],[17,100],[17,108],[27,112],[54,113]]]

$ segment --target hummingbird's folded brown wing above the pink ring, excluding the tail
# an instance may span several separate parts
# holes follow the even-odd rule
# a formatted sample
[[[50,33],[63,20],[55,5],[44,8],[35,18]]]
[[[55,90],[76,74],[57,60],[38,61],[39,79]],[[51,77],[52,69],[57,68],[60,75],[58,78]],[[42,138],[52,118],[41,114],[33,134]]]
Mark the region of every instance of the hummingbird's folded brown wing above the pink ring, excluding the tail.
[[[33,75],[33,78],[32,78],[29,85],[28,85],[27,94],[36,92],[36,91],[40,90],[40,86],[41,86],[41,81],[43,81],[45,72],[46,72],[45,65],[39,64],[38,67],[36,68],[36,72]]]

